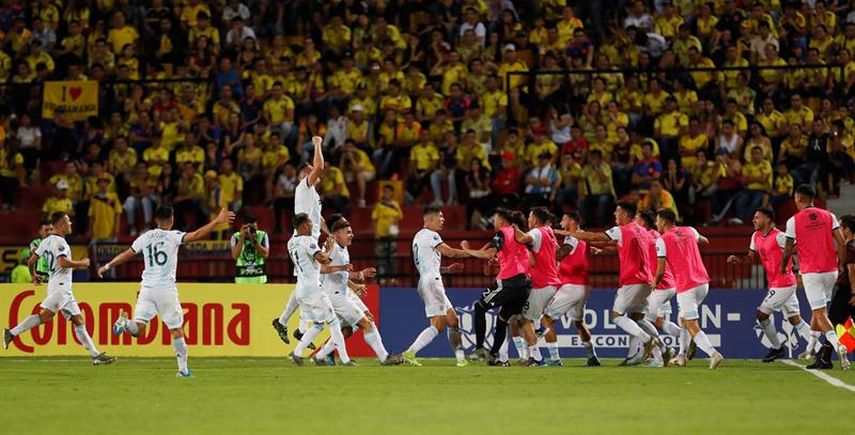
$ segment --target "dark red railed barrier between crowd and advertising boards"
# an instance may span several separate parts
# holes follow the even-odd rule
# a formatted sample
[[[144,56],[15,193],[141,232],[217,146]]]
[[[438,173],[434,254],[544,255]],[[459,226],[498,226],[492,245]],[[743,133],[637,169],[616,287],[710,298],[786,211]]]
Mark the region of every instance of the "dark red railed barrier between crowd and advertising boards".
[[[447,243],[457,246],[457,240],[446,240]],[[228,250],[228,242],[222,243],[222,249],[199,250],[182,248],[179,254],[178,279],[190,282],[228,282],[232,281],[235,273],[235,262],[232,260]],[[373,243],[361,241],[373,246]],[[401,244],[409,245],[410,240],[399,240]],[[473,244],[477,242],[473,241]],[[354,247],[356,248],[356,247]],[[99,264],[105,264],[113,256],[127,249],[127,246],[113,244],[93,245],[90,255],[93,259],[93,270]],[[354,253],[351,249],[351,263],[354,269],[360,270],[366,267],[377,267],[382,262],[373,253]],[[384,286],[414,287],[418,283],[418,272],[413,264],[412,256],[409,254],[398,254],[389,258],[392,270],[389,273],[378,276],[378,282]],[[406,251],[403,251],[406,252]],[[765,275],[762,267],[748,265],[727,264],[730,253],[704,253],[704,263],[707,266],[714,288],[739,288],[757,289],[765,287]],[[589,280],[594,288],[613,288],[618,284],[619,260],[617,255],[603,254],[590,255]],[[445,259],[444,265],[451,263],[462,263],[463,272],[444,274],[443,280],[446,287],[472,287],[484,288],[495,282],[496,268],[486,261],[479,259]],[[291,260],[281,247],[273,246],[271,257],[266,262],[267,276],[270,282],[295,282]],[[128,264],[117,267],[114,270],[113,280],[138,281],[143,270],[143,259],[140,256],[134,258]]]

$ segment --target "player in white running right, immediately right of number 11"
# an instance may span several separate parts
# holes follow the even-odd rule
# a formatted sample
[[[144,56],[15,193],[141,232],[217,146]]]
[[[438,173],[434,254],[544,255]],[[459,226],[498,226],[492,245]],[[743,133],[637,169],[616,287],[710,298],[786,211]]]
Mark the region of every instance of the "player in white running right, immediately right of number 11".
[[[380,331],[377,330],[377,325],[369,319],[360,306],[355,304],[348,294],[348,284],[351,276],[357,281],[373,278],[376,274],[374,268],[366,268],[356,273],[348,272],[347,270],[331,271],[335,266],[346,266],[350,264],[350,253],[347,247],[353,243],[353,229],[344,218],[339,218],[330,228],[331,237],[329,239],[330,248],[327,254],[330,259],[328,265],[321,265],[321,288],[330,298],[333,306],[333,311],[342,321],[342,334],[345,338],[353,334],[354,328],[361,328],[365,342],[377,355],[377,359],[381,364],[391,364],[399,362],[389,358],[389,352],[383,346],[383,339],[380,337]],[[323,348],[314,356],[316,365],[328,365],[332,358],[332,352],[335,350],[335,342],[327,341]],[[328,357],[329,356],[329,357]],[[334,360],[333,360],[334,364]]]

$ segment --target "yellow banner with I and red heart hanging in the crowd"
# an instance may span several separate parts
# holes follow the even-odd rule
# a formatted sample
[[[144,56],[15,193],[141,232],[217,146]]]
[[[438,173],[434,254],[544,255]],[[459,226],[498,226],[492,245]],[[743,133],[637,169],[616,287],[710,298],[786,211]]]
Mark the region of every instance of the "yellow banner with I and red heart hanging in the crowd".
[[[72,120],[82,121],[98,115],[98,82],[45,82],[42,117],[53,119],[64,111]]]

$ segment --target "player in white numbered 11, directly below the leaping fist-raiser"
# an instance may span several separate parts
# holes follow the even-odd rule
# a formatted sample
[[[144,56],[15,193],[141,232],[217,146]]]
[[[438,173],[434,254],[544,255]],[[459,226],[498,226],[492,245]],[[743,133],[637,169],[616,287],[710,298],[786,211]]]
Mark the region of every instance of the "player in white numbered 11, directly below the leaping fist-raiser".
[[[324,329],[324,324],[330,327],[330,336],[338,350],[343,365],[354,365],[347,355],[344,345],[344,335],[341,333],[341,321],[335,314],[332,302],[325,291],[321,289],[321,267],[327,273],[350,272],[353,265],[330,265],[329,256],[321,251],[317,241],[312,237],[311,218],[305,213],[294,216],[296,235],[288,241],[288,254],[297,270],[297,287],[294,297],[302,315],[312,322],[312,326],[303,334],[297,347],[288,354],[288,358],[297,366],[303,365],[303,351],[309,343]]]

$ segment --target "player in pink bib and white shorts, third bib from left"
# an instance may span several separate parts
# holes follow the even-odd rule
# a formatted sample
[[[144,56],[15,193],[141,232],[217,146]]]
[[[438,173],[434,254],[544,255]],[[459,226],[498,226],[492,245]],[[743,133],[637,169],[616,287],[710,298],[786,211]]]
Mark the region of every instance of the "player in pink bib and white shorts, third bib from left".
[[[567,232],[579,229],[579,213],[572,211],[561,218],[561,228]],[[543,310],[541,323],[546,328],[544,339],[549,351],[547,365],[561,366],[561,355],[558,352],[558,335],[555,333],[555,320],[565,314],[573,322],[582,346],[588,355],[585,365],[596,367],[600,365],[597,351],[591,342],[591,331],[585,325],[585,303],[591,295],[588,287],[588,244],[573,237],[566,236],[561,247],[556,252],[558,260],[558,278],[561,287]]]

